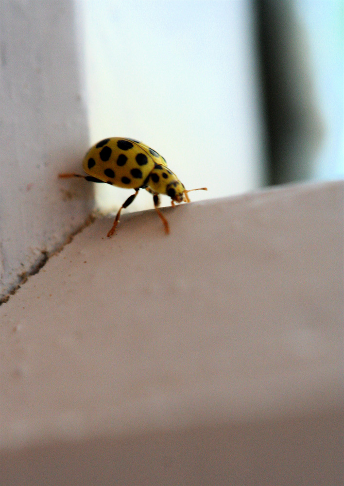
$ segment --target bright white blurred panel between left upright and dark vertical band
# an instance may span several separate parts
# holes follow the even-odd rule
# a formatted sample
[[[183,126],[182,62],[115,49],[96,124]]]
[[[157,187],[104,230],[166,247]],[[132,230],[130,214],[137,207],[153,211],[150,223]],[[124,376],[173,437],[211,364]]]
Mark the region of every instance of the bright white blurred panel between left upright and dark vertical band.
[[[139,139],[161,153],[192,200],[264,180],[257,46],[250,1],[86,1],[90,138]],[[143,191],[141,191],[143,192]],[[118,208],[126,190],[97,185]],[[162,198],[163,205],[171,203]],[[153,207],[139,194],[131,210]]]

